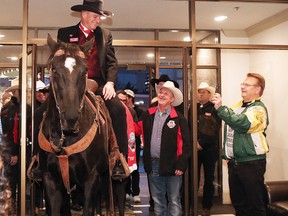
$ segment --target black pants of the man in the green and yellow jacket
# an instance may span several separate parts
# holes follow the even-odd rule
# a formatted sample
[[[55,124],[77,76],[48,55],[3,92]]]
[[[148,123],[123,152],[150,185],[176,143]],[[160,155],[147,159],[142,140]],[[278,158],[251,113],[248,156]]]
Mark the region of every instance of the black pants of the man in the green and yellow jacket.
[[[229,161],[229,188],[236,216],[266,216],[264,174],[266,159]]]

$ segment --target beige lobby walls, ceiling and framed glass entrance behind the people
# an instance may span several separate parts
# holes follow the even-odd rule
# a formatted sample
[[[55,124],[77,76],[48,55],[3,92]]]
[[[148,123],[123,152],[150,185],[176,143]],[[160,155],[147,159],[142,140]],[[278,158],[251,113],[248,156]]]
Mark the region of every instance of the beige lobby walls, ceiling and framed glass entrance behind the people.
[[[59,28],[77,24],[79,14],[70,8],[81,4],[82,0],[22,0],[17,4],[11,0],[2,1],[0,94],[11,86],[13,79],[20,77],[22,89],[26,90],[22,91],[21,98],[32,107],[32,110],[22,110],[21,118],[25,122],[26,112],[34,109],[36,81],[42,80],[45,84],[50,81],[47,35],[56,39]],[[287,0],[104,0],[104,9],[112,12],[103,17],[101,27],[108,28],[113,36],[118,60],[115,88],[133,89],[138,104],[149,107],[155,94],[150,86],[151,79],[168,74],[183,92],[185,117],[192,107],[193,119],[188,121],[197,125],[195,107],[201,82],[215,87],[223,97],[223,104],[231,106],[241,100],[240,83],[247,73],[263,75],[266,88],[262,100],[270,119],[265,181],[288,180],[288,141],[285,140],[288,114],[282,112],[288,106],[285,99],[285,92],[288,92]],[[216,16],[224,16],[224,19],[215,21]],[[30,193],[25,171],[26,134],[26,128],[21,127],[21,194]],[[191,134],[197,134],[196,127]],[[30,142],[33,145],[33,140]],[[193,142],[197,142],[197,136],[193,136]],[[184,215],[198,215],[201,209],[201,186],[200,191],[193,189],[198,187],[197,147],[191,148],[189,172],[184,179]],[[147,187],[144,171],[140,181]],[[234,215],[227,164],[220,155],[214,184],[214,196],[219,205],[212,209],[212,215]],[[147,210],[149,193],[147,188],[141,190],[143,206],[134,214],[150,215]],[[19,202],[19,215],[32,215],[25,195]],[[221,205],[227,205],[228,210],[221,212]]]

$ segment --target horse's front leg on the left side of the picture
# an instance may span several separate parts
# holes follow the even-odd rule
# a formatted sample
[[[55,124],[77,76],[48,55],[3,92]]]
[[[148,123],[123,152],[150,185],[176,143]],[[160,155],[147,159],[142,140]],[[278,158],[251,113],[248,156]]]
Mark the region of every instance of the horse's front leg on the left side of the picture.
[[[43,181],[47,194],[47,214],[49,216],[71,216],[70,196],[63,186],[62,179],[57,181],[50,172],[45,172]]]

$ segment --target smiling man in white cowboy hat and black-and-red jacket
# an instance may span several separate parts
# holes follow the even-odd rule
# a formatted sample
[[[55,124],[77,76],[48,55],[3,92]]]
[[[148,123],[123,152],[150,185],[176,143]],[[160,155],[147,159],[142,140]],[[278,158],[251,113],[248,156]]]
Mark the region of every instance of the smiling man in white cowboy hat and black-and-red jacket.
[[[180,216],[180,189],[188,166],[190,137],[187,120],[174,106],[182,103],[183,95],[172,81],[157,85],[156,92],[158,105],[143,114],[135,131],[143,135],[144,169],[149,175],[155,214]]]

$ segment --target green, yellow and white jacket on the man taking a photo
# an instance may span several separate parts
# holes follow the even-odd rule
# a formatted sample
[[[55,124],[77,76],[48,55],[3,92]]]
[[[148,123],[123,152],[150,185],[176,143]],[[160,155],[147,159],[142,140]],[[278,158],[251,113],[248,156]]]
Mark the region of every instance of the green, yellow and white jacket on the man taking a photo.
[[[225,122],[223,159],[244,162],[266,158],[269,146],[265,131],[269,119],[260,98],[248,103],[240,101],[231,108],[221,106],[217,114]],[[232,155],[227,146],[233,149]]]

